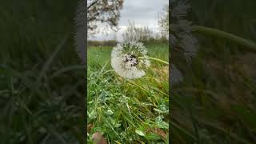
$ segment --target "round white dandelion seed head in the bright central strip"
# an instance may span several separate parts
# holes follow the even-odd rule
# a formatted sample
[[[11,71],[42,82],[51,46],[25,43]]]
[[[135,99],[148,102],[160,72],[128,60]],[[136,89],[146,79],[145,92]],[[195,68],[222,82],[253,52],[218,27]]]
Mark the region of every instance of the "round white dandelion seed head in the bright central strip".
[[[141,78],[150,66],[146,47],[142,42],[118,43],[111,53],[111,66],[124,78]]]

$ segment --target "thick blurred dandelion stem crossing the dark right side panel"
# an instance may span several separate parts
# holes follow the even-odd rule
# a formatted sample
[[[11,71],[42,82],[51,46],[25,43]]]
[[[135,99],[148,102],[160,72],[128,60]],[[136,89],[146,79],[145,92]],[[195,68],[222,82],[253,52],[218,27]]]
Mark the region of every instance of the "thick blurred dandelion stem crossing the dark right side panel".
[[[218,38],[226,38],[232,42],[236,42],[239,45],[246,46],[250,50],[256,52],[256,43],[246,40],[245,38],[238,37],[237,35],[205,26],[193,26],[193,30],[200,34],[209,34]]]

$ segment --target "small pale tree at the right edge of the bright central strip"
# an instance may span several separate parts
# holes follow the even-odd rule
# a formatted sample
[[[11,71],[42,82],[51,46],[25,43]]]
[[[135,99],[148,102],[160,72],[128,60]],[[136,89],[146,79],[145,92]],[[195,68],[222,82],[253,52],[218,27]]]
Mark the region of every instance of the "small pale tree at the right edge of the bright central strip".
[[[158,26],[162,37],[169,36],[169,5],[164,6],[162,13],[158,14]]]

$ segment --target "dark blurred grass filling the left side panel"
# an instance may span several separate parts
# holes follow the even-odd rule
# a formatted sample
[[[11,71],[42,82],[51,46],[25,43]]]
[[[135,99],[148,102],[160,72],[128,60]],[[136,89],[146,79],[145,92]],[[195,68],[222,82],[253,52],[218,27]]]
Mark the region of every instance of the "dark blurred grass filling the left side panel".
[[[84,143],[77,1],[0,3],[0,143]]]

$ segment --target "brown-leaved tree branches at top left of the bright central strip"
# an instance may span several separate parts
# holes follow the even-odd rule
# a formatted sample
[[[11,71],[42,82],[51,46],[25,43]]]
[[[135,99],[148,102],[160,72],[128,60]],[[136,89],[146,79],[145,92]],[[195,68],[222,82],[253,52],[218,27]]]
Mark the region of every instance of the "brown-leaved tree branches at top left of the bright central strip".
[[[95,34],[98,22],[116,30],[124,0],[87,0],[87,29]]]

